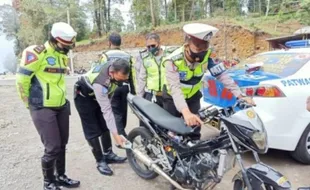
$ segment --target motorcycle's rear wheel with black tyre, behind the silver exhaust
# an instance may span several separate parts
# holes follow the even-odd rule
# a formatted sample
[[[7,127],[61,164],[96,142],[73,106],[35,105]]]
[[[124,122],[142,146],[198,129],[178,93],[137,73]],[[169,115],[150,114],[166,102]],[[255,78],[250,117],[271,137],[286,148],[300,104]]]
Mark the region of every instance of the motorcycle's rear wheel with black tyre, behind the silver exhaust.
[[[141,146],[143,146],[143,149],[145,150],[145,152],[147,152],[147,155],[151,157],[150,155],[151,153],[149,152],[146,145],[147,145],[147,142],[151,141],[151,139],[153,138],[152,134],[144,127],[138,127],[130,131],[130,133],[128,134],[128,140],[131,143],[133,143],[133,148],[135,148],[134,140],[139,136],[141,137],[141,142],[142,142]],[[156,172],[149,170],[146,165],[142,163],[138,163],[139,160],[135,158],[135,155],[133,154],[131,150],[126,150],[126,154],[127,154],[129,165],[136,172],[138,176],[140,176],[141,178],[145,180],[151,180],[158,176]],[[142,168],[140,164],[144,165],[144,168]]]

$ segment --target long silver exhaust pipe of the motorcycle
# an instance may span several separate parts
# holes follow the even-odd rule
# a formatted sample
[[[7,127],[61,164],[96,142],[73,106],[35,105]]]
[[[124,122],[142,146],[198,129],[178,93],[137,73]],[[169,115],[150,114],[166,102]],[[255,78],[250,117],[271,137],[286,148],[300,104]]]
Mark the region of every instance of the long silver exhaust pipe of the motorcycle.
[[[158,173],[159,175],[163,176],[165,179],[167,179],[174,187],[176,187],[177,189],[180,190],[189,190],[189,189],[184,189],[183,187],[181,187],[181,185],[179,185],[176,181],[174,181],[173,179],[171,179],[171,177],[169,177],[162,169],[160,169],[159,166],[157,166],[157,164],[153,163],[153,160],[143,154],[141,151],[137,150],[137,149],[132,149],[132,152],[134,153],[134,155],[141,161],[143,162],[145,165],[147,165],[147,167],[149,167],[150,169],[154,170],[156,173]]]

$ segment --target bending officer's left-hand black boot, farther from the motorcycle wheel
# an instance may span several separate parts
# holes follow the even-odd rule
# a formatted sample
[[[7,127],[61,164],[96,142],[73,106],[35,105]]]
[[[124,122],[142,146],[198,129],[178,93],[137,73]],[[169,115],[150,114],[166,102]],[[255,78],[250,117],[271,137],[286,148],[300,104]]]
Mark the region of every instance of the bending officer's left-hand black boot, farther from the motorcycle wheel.
[[[93,138],[88,140],[88,144],[91,146],[92,153],[97,161],[97,169],[102,175],[113,175],[113,171],[108,166],[107,162],[105,161],[102,149],[100,146],[99,138]]]

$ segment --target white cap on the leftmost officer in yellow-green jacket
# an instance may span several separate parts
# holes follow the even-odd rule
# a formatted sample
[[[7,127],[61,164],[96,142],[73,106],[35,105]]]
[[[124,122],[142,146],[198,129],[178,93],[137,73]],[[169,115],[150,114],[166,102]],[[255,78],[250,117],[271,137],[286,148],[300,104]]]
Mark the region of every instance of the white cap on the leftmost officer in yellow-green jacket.
[[[61,44],[71,46],[75,43],[77,33],[65,22],[56,22],[52,26],[51,35]]]

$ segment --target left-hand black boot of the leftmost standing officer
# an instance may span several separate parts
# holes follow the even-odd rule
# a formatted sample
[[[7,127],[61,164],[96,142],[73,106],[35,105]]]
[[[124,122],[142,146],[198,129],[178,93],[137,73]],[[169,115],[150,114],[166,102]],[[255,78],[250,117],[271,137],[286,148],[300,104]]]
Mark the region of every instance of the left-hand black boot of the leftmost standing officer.
[[[42,172],[44,177],[43,190],[61,190],[55,183],[54,167],[55,161],[41,160]]]

